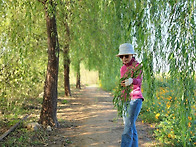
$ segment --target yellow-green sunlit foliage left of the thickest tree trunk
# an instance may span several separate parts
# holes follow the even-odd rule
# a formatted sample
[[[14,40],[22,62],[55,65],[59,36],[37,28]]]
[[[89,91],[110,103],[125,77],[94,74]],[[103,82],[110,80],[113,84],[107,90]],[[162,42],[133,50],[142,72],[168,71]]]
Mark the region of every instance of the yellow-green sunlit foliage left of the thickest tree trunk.
[[[3,0],[0,9],[0,99],[11,111],[28,105],[26,101],[41,92],[46,27],[38,1]]]

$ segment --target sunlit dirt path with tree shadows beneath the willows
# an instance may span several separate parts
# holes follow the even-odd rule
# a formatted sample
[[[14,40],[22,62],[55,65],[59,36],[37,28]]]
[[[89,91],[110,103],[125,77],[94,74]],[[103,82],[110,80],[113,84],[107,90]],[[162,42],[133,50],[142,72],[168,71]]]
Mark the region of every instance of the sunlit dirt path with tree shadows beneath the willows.
[[[112,99],[108,92],[96,86],[84,87],[66,98],[68,103],[59,104],[58,109],[61,127],[57,137],[62,136],[64,140],[53,146],[119,147],[123,124],[121,118],[117,119]],[[138,121],[137,130],[139,146],[153,146],[150,125]]]

